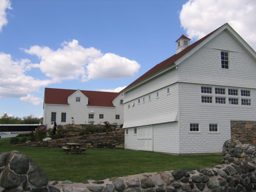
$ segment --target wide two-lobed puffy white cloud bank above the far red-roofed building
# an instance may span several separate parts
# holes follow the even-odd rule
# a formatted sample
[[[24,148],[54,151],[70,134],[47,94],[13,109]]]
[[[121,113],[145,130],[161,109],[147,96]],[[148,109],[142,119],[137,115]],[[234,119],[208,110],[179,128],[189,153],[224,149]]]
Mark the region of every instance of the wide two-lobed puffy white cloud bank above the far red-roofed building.
[[[53,82],[81,79],[120,79],[133,77],[138,73],[140,65],[113,53],[103,54],[93,47],[83,48],[77,40],[63,42],[61,49],[51,50],[49,47],[32,46],[24,50],[37,55],[41,62],[30,65],[38,67]]]

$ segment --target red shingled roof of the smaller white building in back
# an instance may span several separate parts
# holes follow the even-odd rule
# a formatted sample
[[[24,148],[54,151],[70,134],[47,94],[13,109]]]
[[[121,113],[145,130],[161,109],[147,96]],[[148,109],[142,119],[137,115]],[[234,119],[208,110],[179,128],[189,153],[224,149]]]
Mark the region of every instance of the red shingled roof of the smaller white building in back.
[[[77,90],[45,88],[45,104],[69,105],[67,97],[75,91]],[[112,101],[120,95],[120,93],[114,92],[80,91],[88,97],[88,106],[115,107]]]

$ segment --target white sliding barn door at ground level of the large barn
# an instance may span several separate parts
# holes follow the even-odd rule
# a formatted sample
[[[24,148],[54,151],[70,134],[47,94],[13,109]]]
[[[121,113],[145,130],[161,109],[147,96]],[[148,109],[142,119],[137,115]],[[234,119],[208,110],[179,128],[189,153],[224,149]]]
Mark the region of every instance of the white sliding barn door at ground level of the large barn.
[[[138,150],[153,151],[153,128],[151,126],[138,127]]]

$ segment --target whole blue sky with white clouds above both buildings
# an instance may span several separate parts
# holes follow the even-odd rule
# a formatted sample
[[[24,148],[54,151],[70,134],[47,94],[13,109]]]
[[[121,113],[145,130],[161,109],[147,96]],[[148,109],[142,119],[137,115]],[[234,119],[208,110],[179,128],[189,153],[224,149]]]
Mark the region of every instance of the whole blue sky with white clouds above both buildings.
[[[255,0],[0,0],[0,114],[43,116],[45,87],[121,91],[228,22],[256,50]]]

